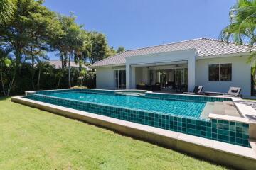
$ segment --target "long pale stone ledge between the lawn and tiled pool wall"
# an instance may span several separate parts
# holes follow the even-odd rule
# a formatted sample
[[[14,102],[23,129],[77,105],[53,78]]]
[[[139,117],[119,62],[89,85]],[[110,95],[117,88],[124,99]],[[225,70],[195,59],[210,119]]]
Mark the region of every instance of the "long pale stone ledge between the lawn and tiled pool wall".
[[[58,115],[64,115],[68,118],[74,118],[92,123],[94,125],[100,125],[105,128],[117,130],[125,135],[132,137],[139,137],[142,140],[156,142],[159,145],[164,145],[171,149],[180,150],[182,152],[188,152],[190,154],[208,159],[220,164],[227,164],[229,166],[239,167],[240,169],[246,168],[245,164],[233,163],[235,160],[242,159],[243,162],[251,162],[256,166],[256,152],[253,148],[242,147],[238,145],[232,145],[225,142],[219,142],[215,140],[206,139],[203,137],[197,137],[193,135],[183,134],[181,132],[174,132],[171,130],[164,130],[160,128],[151,127],[148,125],[142,125],[139,123],[132,123],[126,120],[119,120],[117,118],[110,118],[105,115],[97,115],[95,113],[89,113],[85,111],[78,111],[73,108],[65,108],[63,106],[57,106],[50,103],[43,103],[41,101],[33,101],[23,96],[11,97],[11,101],[21,103],[26,106],[32,106],[51,113],[57,113]],[[208,154],[202,154],[202,151]],[[218,155],[218,156],[216,156]],[[220,159],[219,157],[225,157],[228,159]],[[249,165],[247,165],[249,167]]]

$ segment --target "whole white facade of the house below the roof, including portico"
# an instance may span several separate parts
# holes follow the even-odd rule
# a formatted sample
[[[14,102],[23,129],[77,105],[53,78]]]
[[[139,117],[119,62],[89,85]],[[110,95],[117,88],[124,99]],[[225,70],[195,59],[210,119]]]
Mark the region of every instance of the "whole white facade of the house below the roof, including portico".
[[[101,67],[97,68],[96,87],[97,89],[114,89],[114,69],[126,69],[127,89],[135,89],[136,84],[145,81],[147,77],[146,68],[137,67],[136,64],[153,64],[159,62],[188,61],[188,86],[192,91],[194,86],[203,86],[203,91],[228,92],[230,86],[242,88],[242,95],[250,96],[250,64],[247,64],[247,57],[215,57],[196,60],[196,50],[165,52],[154,55],[127,57],[125,67]],[[232,64],[231,81],[209,81],[209,64]],[[135,73],[137,75],[135,75]]]

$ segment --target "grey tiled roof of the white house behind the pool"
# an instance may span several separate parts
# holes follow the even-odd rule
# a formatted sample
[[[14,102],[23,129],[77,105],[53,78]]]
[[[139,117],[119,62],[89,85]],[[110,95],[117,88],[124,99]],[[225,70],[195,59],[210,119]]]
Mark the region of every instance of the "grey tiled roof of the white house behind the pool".
[[[171,52],[176,50],[189,50],[193,48],[199,50],[199,57],[250,52],[249,47],[246,45],[237,45],[233,42],[225,43],[223,45],[223,42],[221,42],[220,40],[215,40],[212,38],[198,38],[193,40],[185,40],[181,42],[173,42],[165,45],[156,45],[152,47],[144,47],[135,50],[127,50],[112,57],[108,57],[104,60],[100,60],[99,62],[95,62],[94,64],[91,64],[89,67],[124,65],[125,57],[149,55],[160,52]]]

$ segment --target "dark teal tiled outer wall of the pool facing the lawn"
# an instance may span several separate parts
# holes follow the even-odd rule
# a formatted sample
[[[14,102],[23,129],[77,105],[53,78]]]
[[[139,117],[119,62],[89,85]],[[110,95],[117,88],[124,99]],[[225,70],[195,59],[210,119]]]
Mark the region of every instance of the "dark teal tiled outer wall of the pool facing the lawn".
[[[78,90],[75,89],[75,91]],[[90,89],[82,89],[82,91],[93,92]],[[198,137],[205,137],[211,140],[218,140],[221,142],[227,142],[234,145],[250,147],[248,135],[249,124],[247,123],[238,123],[233,121],[215,119],[205,120],[202,118],[188,118],[182,115],[164,115],[146,111],[136,111],[127,108],[119,108],[114,106],[99,105],[95,103],[85,103],[83,101],[73,101],[65,98],[43,96],[42,94],[48,94],[49,92],[38,92],[39,93],[36,94],[28,94],[26,98],[30,98],[36,101],[42,101],[45,103],[51,103],[58,106],[74,108],[80,111],[87,111],[90,113],[106,115],[112,118],[127,120],[130,122],[140,123],[143,125],[150,125],[156,128],[173,130],[176,132],[186,133],[188,135],[195,135]],[[50,92],[55,93],[61,91]],[[111,91],[100,91],[100,93],[105,92],[107,94],[113,93]]]

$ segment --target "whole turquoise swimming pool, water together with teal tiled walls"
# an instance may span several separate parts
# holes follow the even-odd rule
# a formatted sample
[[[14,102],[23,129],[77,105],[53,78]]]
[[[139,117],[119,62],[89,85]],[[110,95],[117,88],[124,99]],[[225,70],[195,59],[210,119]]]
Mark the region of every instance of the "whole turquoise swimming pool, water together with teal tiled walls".
[[[230,98],[157,93],[124,96],[117,91],[96,89],[36,91],[26,98],[250,147],[247,123],[200,118],[207,102],[231,101]]]

